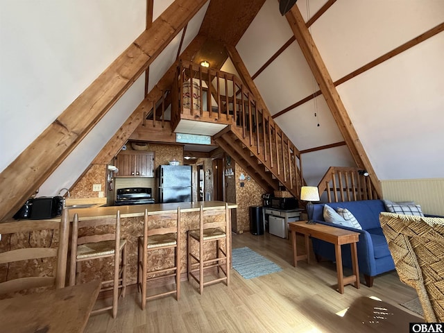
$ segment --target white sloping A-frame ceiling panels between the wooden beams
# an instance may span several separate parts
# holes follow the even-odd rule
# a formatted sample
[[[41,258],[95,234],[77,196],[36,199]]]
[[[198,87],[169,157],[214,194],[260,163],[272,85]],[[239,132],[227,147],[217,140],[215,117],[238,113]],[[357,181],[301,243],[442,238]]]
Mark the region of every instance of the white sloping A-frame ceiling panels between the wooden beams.
[[[171,3],[155,0],[153,19]],[[208,3],[189,22],[180,51],[198,35]],[[299,0],[297,6],[307,21],[325,3]],[[309,31],[335,81],[443,23],[442,0],[337,0]],[[145,25],[146,0],[0,0],[0,171]],[[148,90],[176,60],[181,36],[151,64]],[[292,36],[278,1],[266,0],[236,44],[250,76]],[[444,177],[443,54],[441,32],[336,87],[380,180]],[[230,60],[223,70],[235,72]],[[271,114],[318,90],[296,41],[254,82]],[[40,194],[70,187],[143,98],[144,76],[60,164]],[[275,121],[302,151],[343,141],[322,95]],[[355,165],[347,146],[302,154],[302,164],[309,185],[317,185],[330,166]]]

